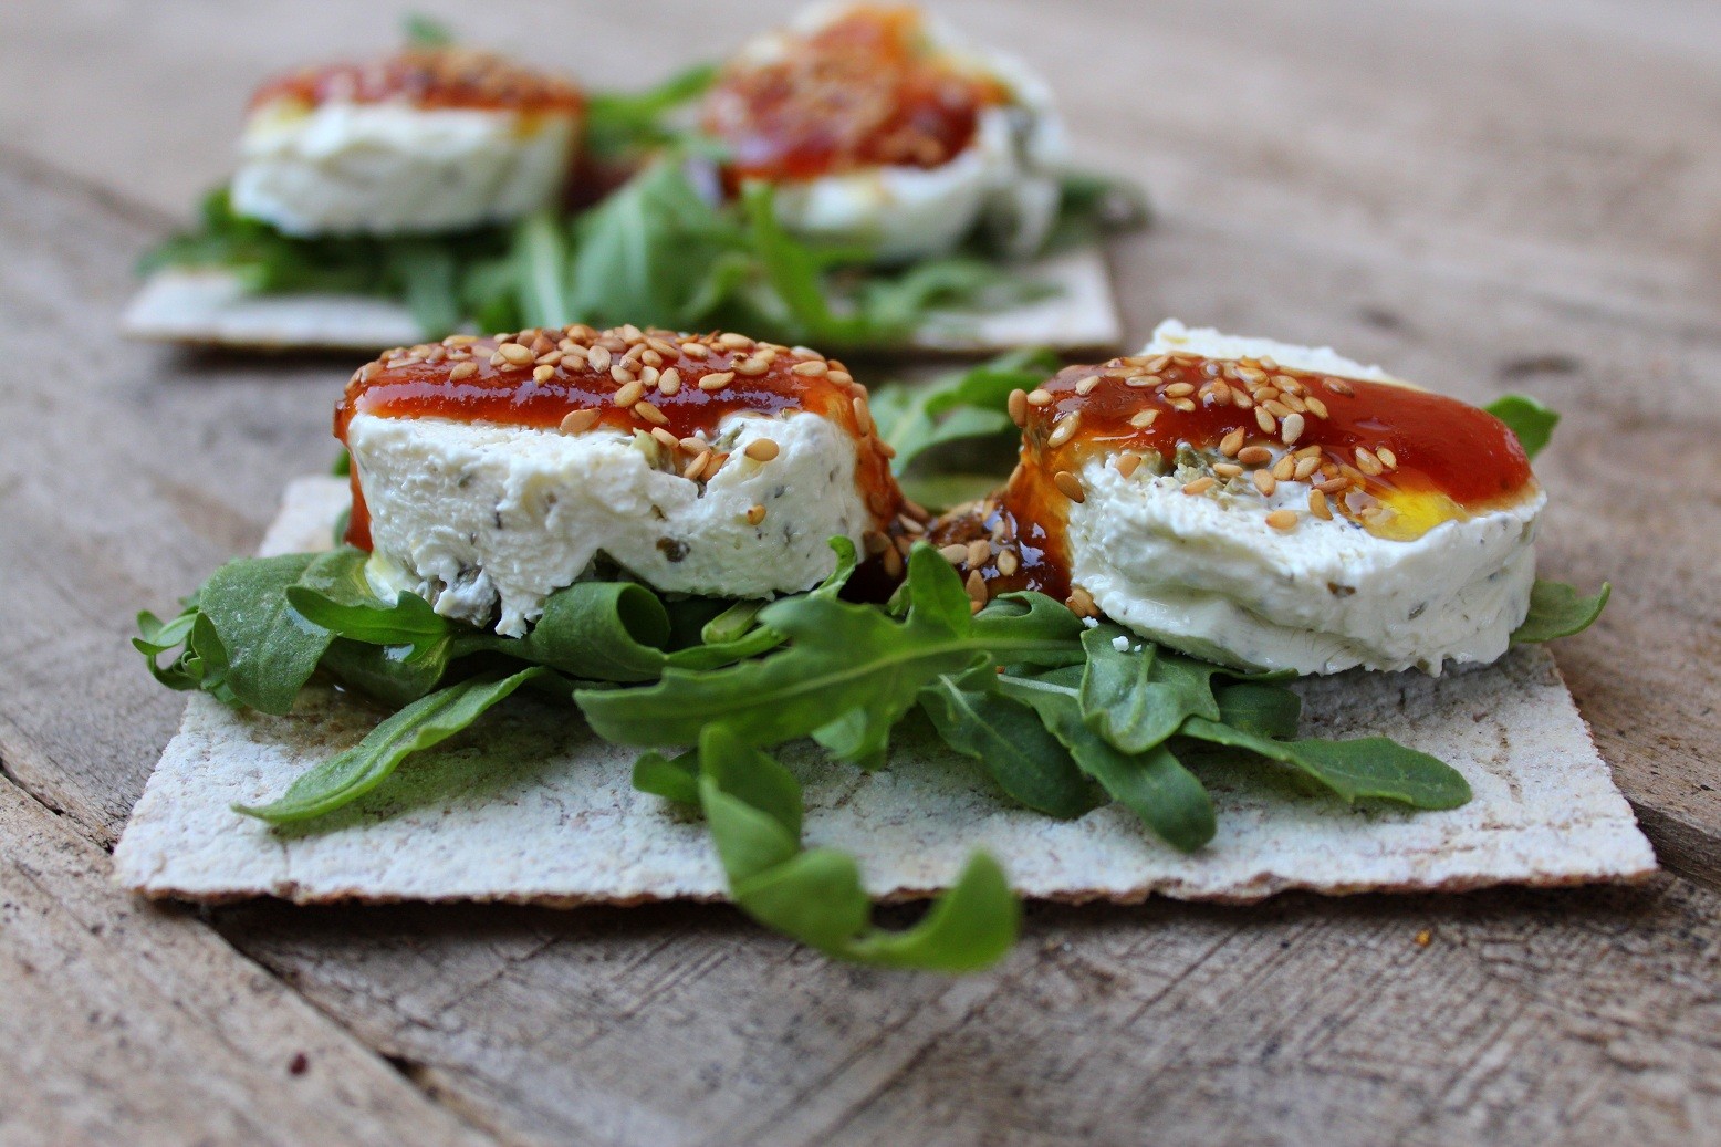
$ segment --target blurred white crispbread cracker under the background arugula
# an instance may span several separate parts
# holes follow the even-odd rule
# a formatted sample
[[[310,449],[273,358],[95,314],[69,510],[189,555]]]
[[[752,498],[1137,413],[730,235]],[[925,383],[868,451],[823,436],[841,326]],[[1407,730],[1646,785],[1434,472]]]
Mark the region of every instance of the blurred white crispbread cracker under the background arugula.
[[[910,350],[955,355],[1017,346],[1062,351],[1113,350],[1124,338],[1112,276],[1098,246],[1050,255],[1027,269],[1055,288],[1046,298],[1005,310],[933,312]],[[399,303],[365,294],[253,294],[224,270],[158,270],[120,319],[141,339],[270,350],[351,350],[375,355],[423,334]]]

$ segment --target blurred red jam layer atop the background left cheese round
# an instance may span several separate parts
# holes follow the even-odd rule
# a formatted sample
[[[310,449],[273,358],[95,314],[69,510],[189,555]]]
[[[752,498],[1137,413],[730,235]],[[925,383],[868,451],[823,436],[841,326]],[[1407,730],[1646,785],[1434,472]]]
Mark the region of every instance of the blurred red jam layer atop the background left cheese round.
[[[306,67],[265,83],[251,96],[251,108],[277,100],[306,107],[406,100],[423,110],[527,114],[577,114],[585,103],[564,79],[470,48],[406,48],[368,64]]]

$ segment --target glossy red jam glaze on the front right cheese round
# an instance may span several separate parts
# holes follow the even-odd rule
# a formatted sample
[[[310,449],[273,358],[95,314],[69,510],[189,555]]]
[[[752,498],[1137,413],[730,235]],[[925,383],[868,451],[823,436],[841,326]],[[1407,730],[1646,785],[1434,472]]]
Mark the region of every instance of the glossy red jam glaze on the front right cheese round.
[[[1138,384],[1131,386],[1131,379]],[[1182,391],[1184,386],[1191,389]],[[1523,446],[1504,422],[1454,398],[1389,382],[1335,379],[1261,360],[1143,355],[1067,367],[1038,389],[1050,401],[1017,405],[1026,415],[1021,465],[1002,494],[953,512],[929,530],[940,546],[991,539],[991,555],[978,567],[988,594],[1014,589],[1038,589],[1058,599],[1070,594],[1064,539],[1069,489],[1083,494],[1079,475],[1095,455],[1112,460],[1157,455],[1169,465],[1179,446],[1187,444],[1212,462],[1244,463],[1246,479],[1251,470],[1270,472],[1272,462],[1251,460],[1249,448],[1268,446],[1275,458],[1282,456],[1286,417],[1272,413],[1274,431],[1267,432],[1256,420],[1263,403],[1255,394],[1280,391],[1272,401],[1282,401],[1289,389],[1301,406],[1286,410],[1299,413],[1303,422],[1289,450],[1318,448],[1320,470],[1303,480],[1344,487],[1327,501],[1337,517],[1370,525],[1370,515],[1379,513],[1372,506],[1391,506],[1396,494],[1442,494],[1461,512],[1485,512],[1514,501],[1533,482]],[[1317,413],[1322,408],[1325,417]],[[1150,410],[1155,412],[1150,425],[1131,422]],[[1058,436],[1057,429],[1070,417],[1074,429]],[[1234,434],[1239,429],[1241,436]],[[1220,451],[1227,436],[1231,456]],[[1053,437],[1062,441],[1052,444]],[[1366,460],[1358,458],[1358,448],[1368,451]],[[1379,472],[1363,472],[1361,465]],[[1306,518],[1308,512],[1298,517]],[[1014,551],[1014,560],[1005,560],[1009,574],[998,568],[1003,549]],[[969,570],[967,563],[959,565]]]

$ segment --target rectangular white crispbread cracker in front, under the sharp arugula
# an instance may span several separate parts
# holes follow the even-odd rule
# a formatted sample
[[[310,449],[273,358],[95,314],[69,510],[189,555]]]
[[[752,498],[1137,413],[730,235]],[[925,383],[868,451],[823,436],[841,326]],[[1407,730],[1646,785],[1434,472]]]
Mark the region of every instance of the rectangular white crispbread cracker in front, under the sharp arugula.
[[[301,479],[265,553],[322,549],[344,506],[337,479]],[[909,899],[945,887],[972,847],[1019,892],[1058,901],[1255,901],[1317,892],[1451,890],[1489,884],[1632,880],[1649,842],[1614,790],[1540,648],[1446,677],[1344,673],[1298,684],[1305,732],[1384,734],[1458,768],[1475,799],[1444,813],[1287,797],[1265,766],[1191,761],[1218,806],[1218,835],[1184,856],[1117,806],[1057,822],[1005,801],[974,761],[904,727],[888,768],[862,773],[811,744],[781,758],[805,784],[809,844],[859,856],[867,890]],[[289,716],[194,694],[115,849],[122,884],[148,896],[301,902],[515,901],[632,904],[719,899],[704,825],[635,792],[635,749],[595,739],[566,708],[515,699],[482,727],[410,758],[361,803],[272,830],[231,804],[277,796],[356,742],[377,713],[313,685]]]

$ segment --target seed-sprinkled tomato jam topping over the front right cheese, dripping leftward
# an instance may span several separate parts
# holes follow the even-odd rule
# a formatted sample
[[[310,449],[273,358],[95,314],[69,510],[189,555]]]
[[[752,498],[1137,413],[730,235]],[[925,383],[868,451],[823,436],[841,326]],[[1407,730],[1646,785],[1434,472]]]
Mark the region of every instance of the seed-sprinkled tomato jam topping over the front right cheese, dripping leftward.
[[[1096,456],[1126,479],[1141,467],[1175,474],[1187,496],[1260,499],[1277,530],[1344,518],[1403,541],[1516,501],[1533,482],[1516,436],[1484,410],[1270,358],[1162,353],[1067,367],[1012,394],[1010,415],[1022,453],[1005,489],[929,530],[981,603],[1038,589],[1091,613],[1069,580],[1064,529]],[[1296,508],[1279,491],[1291,482]]]

